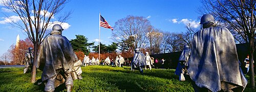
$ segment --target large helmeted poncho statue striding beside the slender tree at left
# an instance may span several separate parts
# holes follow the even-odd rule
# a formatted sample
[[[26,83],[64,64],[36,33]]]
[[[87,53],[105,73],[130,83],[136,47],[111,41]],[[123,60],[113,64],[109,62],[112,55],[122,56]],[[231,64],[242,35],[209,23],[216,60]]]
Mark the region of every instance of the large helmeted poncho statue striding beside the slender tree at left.
[[[49,37],[46,37],[38,49],[37,68],[42,71],[41,79],[46,81],[45,91],[54,91],[55,80],[63,80],[65,76],[67,91],[71,91],[73,79],[71,72],[74,67],[75,55],[69,40],[61,36],[62,27],[53,26]]]

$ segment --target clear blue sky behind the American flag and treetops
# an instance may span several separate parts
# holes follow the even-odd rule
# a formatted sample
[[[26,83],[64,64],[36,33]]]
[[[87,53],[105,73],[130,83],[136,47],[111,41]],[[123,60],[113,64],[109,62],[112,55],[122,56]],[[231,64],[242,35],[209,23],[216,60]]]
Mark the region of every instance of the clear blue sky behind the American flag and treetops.
[[[0,0],[2,1],[2,0]],[[62,12],[73,11],[69,20],[66,21],[65,30],[62,35],[69,40],[75,39],[75,35],[84,35],[89,42],[99,39],[99,12],[111,26],[127,15],[144,16],[151,21],[155,28],[164,32],[179,33],[186,30],[185,24],[191,23],[199,27],[199,17],[202,15],[196,12],[200,6],[198,0],[73,0],[65,5]],[[21,29],[11,27],[5,21],[3,6],[0,6],[0,55],[7,52],[9,47],[16,42],[19,34],[20,40],[27,36]],[[12,13],[9,13],[12,15]],[[113,42],[112,31],[107,28],[100,28],[100,40],[103,44],[109,45]]]

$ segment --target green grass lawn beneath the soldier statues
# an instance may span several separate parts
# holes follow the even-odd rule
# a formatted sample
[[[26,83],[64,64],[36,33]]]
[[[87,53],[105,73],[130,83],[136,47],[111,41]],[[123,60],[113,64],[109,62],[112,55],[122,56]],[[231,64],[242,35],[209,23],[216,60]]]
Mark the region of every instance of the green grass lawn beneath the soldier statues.
[[[44,85],[30,83],[31,74],[23,74],[23,69],[0,69],[0,91],[44,91]],[[130,67],[89,66],[82,71],[83,79],[74,81],[73,91],[194,91],[190,82],[178,80],[173,69],[146,70],[144,75],[138,70],[132,72]],[[37,80],[41,73],[38,70]],[[65,85],[55,90],[66,91]]]

